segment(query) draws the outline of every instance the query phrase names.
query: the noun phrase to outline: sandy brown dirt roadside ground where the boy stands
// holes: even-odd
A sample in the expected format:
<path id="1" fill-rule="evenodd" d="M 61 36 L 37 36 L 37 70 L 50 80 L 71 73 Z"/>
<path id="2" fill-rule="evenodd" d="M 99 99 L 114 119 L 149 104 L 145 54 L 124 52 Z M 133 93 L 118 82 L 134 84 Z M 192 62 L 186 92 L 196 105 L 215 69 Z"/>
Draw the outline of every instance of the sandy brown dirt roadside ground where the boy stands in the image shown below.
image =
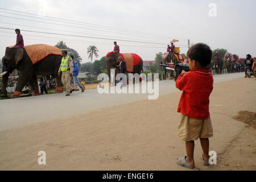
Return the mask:
<path id="1" fill-rule="evenodd" d="M 256 170 L 256 81 L 238 78 L 214 85 L 210 150 L 217 165 L 203 166 L 196 141 L 194 170 Z M 0 132 L 1 170 L 189 170 L 177 138 L 181 92 L 109 107 L 89 114 Z M 46 151 L 45 166 L 38 152 Z"/>

